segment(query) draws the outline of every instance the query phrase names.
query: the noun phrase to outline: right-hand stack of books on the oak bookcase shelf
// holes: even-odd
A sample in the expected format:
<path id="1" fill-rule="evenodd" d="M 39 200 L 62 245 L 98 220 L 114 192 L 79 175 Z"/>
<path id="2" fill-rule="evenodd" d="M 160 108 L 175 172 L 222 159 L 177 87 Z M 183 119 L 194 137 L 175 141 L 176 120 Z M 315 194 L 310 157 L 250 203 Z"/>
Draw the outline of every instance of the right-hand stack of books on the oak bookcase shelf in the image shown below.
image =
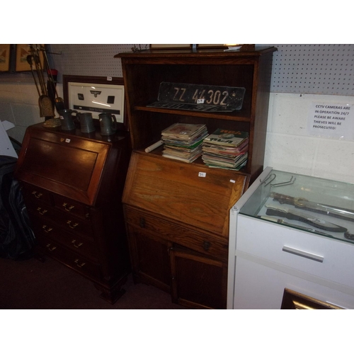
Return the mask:
<path id="1" fill-rule="evenodd" d="M 217 129 L 202 143 L 202 160 L 209 167 L 239 171 L 247 163 L 249 133 Z"/>

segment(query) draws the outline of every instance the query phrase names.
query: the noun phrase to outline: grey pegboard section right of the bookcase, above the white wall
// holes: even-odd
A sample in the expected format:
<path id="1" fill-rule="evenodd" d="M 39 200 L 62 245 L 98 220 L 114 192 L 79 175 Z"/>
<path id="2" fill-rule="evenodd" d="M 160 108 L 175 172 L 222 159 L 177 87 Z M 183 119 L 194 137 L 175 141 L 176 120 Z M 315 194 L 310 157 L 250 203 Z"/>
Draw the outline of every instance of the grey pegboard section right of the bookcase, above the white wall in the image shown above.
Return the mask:
<path id="1" fill-rule="evenodd" d="M 270 91 L 354 96 L 354 45 L 274 45 Z"/>

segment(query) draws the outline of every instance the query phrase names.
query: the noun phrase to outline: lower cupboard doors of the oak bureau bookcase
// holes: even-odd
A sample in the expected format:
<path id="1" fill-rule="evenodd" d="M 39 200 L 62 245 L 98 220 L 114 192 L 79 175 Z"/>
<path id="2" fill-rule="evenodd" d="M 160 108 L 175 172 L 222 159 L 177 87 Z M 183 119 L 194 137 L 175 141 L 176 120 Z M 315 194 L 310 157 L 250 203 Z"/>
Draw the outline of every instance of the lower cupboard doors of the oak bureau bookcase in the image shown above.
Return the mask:
<path id="1" fill-rule="evenodd" d="M 133 280 L 171 294 L 193 309 L 226 309 L 227 264 L 154 234 L 130 230 Z"/>

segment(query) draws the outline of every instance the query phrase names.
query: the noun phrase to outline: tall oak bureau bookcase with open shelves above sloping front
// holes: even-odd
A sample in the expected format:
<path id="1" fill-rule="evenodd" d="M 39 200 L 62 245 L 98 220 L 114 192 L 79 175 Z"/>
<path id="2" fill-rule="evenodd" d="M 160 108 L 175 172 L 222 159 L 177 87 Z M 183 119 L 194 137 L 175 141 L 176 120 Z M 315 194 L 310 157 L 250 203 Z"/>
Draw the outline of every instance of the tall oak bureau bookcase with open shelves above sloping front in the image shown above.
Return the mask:
<path id="1" fill-rule="evenodd" d="M 123 191 L 135 282 L 170 292 L 192 308 L 226 308 L 229 210 L 263 171 L 270 75 L 275 47 L 147 50 L 120 53 L 132 156 Z M 156 107 L 161 82 L 241 87 L 241 110 L 210 112 Z M 144 149 L 173 123 L 205 124 L 249 133 L 241 171 L 184 163 Z"/>

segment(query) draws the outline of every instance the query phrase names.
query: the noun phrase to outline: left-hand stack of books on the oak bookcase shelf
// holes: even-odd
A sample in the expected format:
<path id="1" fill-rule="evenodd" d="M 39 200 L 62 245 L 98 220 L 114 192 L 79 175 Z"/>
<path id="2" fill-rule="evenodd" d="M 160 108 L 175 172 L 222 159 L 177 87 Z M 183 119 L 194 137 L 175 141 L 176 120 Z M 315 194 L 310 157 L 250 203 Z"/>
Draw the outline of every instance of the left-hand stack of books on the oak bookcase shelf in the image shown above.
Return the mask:
<path id="1" fill-rule="evenodd" d="M 202 155 L 202 141 L 207 137 L 205 124 L 176 123 L 161 132 L 164 142 L 162 156 L 193 162 Z"/>

